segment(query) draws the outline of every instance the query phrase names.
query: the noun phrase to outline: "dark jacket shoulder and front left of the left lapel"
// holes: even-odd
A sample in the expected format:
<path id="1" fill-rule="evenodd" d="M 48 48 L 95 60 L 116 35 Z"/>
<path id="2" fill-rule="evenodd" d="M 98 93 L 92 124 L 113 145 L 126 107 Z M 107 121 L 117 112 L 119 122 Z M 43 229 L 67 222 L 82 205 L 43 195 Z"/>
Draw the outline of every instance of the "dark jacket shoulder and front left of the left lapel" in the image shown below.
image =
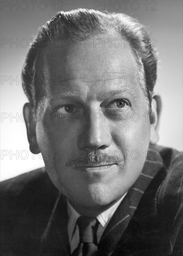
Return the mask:
<path id="1" fill-rule="evenodd" d="M 44 168 L 1 182 L 1 255 L 38 255 L 58 193 Z"/>

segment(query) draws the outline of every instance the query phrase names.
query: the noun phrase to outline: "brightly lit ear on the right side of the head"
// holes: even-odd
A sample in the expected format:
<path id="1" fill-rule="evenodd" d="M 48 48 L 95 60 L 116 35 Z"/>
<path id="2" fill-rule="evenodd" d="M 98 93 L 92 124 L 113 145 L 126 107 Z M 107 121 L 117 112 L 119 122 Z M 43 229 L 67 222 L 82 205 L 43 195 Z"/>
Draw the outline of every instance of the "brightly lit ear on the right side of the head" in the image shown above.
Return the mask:
<path id="1" fill-rule="evenodd" d="M 157 93 L 152 93 L 151 95 L 151 136 L 150 143 L 156 144 L 159 141 L 159 125 L 160 125 L 160 115 L 161 115 L 161 97 Z"/>

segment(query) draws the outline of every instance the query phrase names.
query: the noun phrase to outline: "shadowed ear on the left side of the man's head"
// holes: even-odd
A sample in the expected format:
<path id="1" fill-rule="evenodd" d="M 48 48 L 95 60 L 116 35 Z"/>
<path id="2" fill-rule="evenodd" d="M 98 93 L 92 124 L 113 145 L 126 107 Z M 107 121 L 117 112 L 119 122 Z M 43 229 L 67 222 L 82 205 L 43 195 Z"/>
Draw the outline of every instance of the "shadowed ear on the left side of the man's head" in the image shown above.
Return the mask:
<path id="1" fill-rule="evenodd" d="M 27 129 L 29 148 L 33 154 L 39 154 L 40 150 L 36 138 L 36 116 L 30 103 L 25 103 L 23 108 L 24 120 Z"/>

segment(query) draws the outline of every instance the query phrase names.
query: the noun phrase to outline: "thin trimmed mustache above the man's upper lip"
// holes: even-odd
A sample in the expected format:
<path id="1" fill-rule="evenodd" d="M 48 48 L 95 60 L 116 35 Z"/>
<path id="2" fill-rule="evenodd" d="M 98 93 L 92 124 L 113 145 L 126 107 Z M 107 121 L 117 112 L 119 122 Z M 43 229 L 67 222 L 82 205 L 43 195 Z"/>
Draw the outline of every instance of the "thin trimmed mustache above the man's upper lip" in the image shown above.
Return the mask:
<path id="1" fill-rule="evenodd" d="M 67 167 L 80 167 L 82 165 L 86 164 L 115 164 L 115 163 L 120 163 L 124 161 L 123 157 L 116 157 L 112 155 L 108 155 L 106 153 L 103 153 L 101 150 L 96 150 L 88 153 L 87 156 L 83 158 L 77 158 L 75 160 L 70 160 L 66 163 Z"/>

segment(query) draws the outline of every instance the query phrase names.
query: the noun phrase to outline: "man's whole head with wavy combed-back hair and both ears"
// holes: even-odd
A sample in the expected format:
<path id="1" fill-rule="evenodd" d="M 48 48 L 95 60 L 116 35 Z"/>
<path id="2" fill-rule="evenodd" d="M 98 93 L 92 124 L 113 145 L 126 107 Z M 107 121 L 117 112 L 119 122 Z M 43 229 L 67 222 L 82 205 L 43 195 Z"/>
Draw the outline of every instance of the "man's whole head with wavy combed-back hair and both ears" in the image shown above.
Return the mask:
<path id="1" fill-rule="evenodd" d="M 22 77 L 30 149 L 57 189 L 83 209 L 118 200 L 158 141 L 157 59 L 145 28 L 122 13 L 57 13 Z"/>

